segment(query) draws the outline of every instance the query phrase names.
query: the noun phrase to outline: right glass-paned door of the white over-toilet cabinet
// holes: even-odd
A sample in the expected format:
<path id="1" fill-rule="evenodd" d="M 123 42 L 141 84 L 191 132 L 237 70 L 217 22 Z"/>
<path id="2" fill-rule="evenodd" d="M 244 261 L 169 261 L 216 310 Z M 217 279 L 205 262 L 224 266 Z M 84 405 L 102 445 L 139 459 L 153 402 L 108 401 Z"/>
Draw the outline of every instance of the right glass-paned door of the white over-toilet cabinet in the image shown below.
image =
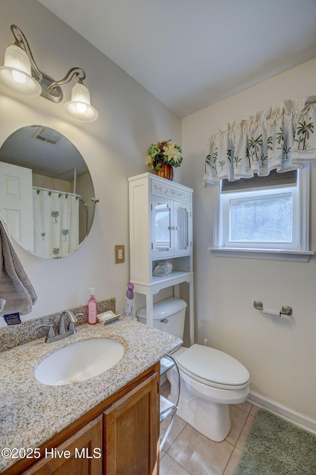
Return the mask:
<path id="1" fill-rule="evenodd" d="M 192 252 L 192 212 L 191 204 L 175 201 L 174 218 L 174 254 L 182 256 Z"/>

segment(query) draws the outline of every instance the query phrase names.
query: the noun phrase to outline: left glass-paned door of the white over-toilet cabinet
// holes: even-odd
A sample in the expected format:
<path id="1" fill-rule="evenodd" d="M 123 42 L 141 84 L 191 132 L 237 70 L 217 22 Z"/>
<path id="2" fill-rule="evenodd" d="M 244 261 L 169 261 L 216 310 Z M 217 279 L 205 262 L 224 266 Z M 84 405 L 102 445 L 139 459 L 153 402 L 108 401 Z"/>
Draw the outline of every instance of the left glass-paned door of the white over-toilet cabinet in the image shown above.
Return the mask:
<path id="1" fill-rule="evenodd" d="M 153 258 L 172 257 L 173 202 L 170 199 L 153 196 Z"/>

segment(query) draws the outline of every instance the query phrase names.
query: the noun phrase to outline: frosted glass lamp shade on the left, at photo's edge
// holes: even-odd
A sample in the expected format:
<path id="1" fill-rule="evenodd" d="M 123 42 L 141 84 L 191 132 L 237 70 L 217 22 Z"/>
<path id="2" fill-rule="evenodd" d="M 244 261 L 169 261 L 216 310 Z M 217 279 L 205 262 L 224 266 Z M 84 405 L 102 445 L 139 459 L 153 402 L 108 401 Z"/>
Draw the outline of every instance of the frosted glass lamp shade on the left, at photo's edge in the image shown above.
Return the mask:
<path id="1" fill-rule="evenodd" d="M 0 84 L 13 93 L 37 97 L 40 84 L 32 77 L 31 63 L 24 49 L 10 45 L 4 54 L 4 66 L 0 67 Z"/>

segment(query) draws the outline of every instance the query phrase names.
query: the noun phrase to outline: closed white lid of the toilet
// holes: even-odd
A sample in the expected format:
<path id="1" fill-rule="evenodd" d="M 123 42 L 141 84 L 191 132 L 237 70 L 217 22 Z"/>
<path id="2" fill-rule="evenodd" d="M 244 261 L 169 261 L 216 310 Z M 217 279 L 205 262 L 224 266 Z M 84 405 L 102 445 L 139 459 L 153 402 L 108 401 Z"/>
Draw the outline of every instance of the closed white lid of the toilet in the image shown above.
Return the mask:
<path id="1" fill-rule="evenodd" d="M 248 383 L 249 372 L 238 360 L 223 351 L 194 344 L 178 358 L 179 368 L 193 378 L 214 383 L 240 386 Z"/>

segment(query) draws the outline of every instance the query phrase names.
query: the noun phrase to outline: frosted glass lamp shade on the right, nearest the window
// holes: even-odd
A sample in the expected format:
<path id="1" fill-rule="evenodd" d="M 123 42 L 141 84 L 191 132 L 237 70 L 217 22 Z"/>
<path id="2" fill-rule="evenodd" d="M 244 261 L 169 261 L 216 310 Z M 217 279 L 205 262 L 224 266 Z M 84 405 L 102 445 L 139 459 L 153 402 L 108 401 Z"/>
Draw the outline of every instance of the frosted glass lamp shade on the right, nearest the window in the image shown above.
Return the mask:
<path id="1" fill-rule="evenodd" d="M 83 122 L 93 122 L 98 113 L 90 104 L 90 94 L 84 84 L 77 83 L 71 93 L 71 101 L 66 102 L 64 110 L 74 119 Z"/>

